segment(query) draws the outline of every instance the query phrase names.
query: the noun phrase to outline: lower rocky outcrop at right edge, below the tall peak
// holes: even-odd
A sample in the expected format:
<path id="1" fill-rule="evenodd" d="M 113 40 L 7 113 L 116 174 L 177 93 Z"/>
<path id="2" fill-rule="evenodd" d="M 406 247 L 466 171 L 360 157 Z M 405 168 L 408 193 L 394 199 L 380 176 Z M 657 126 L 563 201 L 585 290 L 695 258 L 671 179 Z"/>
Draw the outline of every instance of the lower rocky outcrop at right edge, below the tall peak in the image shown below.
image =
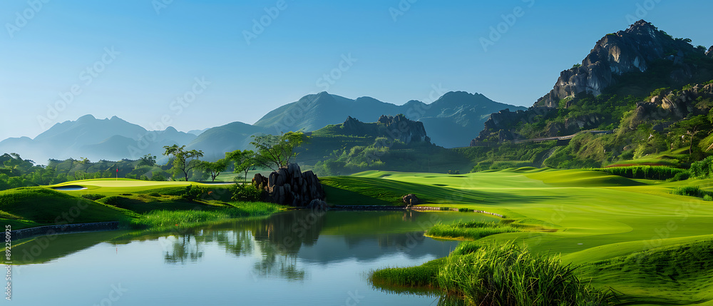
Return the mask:
<path id="1" fill-rule="evenodd" d="M 653 96 L 650 101 L 637 103 L 629 128 L 649 121 L 679 121 L 708 113 L 709 106 L 699 105 L 698 98 L 713 98 L 713 84 L 696 85 L 682 91 L 665 91 Z"/>

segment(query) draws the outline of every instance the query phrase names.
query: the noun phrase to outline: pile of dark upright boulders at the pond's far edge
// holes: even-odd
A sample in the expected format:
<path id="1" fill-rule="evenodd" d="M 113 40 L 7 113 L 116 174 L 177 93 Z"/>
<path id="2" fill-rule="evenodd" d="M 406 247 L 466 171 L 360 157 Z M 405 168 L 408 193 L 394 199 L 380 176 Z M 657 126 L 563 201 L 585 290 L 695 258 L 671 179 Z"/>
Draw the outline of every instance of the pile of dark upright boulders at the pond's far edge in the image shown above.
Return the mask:
<path id="1" fill-rule="evenodd" d="M 296 163 L 272 171 L 267 177 L 266 185 L 263 185 L 265 176 L 260 173 L 257 173 L 252 181 L 256 186 L 264 186 L 264 190 L 269 193 L 268 199 L 272 203 L 294 207 L 323 205 L 314 202 L 314 200 L 324 201 L 324 188 L 319 183 L 319 178 L 311 170 L 302 173 Z"/>

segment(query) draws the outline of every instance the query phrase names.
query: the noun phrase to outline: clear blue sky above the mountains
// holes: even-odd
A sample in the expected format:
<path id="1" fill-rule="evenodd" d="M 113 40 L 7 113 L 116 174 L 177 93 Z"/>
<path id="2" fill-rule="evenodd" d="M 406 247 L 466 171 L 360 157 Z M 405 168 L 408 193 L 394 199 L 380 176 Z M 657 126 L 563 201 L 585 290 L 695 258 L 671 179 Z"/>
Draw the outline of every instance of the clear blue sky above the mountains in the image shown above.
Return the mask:
<path id="1" fill-rule="evenodd" d="M 180 131 L 255 123 L 325 90 L 403 104 L 440 85 L 530 106 L 632 19 L 711 46 L 711 11 L 709 0 L 7 0 L 0 140 L 85 114 Z"/>

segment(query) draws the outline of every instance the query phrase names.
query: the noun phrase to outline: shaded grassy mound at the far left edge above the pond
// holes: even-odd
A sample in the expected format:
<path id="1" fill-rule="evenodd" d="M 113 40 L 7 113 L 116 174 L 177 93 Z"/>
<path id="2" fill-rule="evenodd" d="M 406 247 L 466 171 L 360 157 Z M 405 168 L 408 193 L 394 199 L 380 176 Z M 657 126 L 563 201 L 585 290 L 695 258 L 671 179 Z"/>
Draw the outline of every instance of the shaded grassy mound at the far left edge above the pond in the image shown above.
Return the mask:
<path id="1" fill-rule="evenodd" d="M 3 218 L 32 225 L 125 221 L 134 213 L 48 188 L 29 187 L 0 191 Z M 29 225 L 29 226 L 28 226 Z M 13 228 L 13 229 L 19 229 Z"/>

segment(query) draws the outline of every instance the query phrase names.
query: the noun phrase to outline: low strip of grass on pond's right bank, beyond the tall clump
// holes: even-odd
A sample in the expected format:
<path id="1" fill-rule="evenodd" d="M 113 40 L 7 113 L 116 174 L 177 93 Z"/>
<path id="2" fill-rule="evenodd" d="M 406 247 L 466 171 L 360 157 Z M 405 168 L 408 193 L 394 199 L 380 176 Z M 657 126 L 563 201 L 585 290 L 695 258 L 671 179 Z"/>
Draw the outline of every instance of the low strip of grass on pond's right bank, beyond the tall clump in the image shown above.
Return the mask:
<path id="1" fill-rule="evenodd" d="M 520 232 L 518 228 L 511 225 L 504 225 L 495 222 L 456 222 L 453 224 L 436 223 L 432 228 L 426 231 L 426 235 L 431 237 L 441 238 L 467 238 L 477 240 L 489 235 L 500 233 Z"/>

